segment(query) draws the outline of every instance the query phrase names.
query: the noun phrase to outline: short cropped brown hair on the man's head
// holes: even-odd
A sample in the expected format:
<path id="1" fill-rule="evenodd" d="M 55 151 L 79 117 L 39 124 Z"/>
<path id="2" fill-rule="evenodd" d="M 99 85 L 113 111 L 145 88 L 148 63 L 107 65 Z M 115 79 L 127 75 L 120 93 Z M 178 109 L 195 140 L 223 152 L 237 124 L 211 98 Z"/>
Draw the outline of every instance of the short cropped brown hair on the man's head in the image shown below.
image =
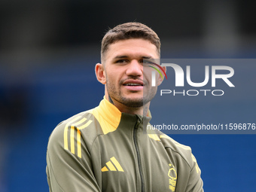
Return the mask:
<path id="1" fill-rule="evenodd" d="M 157 47 L 157 52 L 160 56 L 161 44 L 160 38 L 158 37 L 157 33 L 142 23 L 131 22 L 123 23 L 115 26 L 113 29 L 109 29 L 105 36 L 102 38 L 102 61 L 110 44 L 114 44 L 117 41 L 130 38 L 142 38 L 150 41 L 151 44 L 154 44 Z"/>

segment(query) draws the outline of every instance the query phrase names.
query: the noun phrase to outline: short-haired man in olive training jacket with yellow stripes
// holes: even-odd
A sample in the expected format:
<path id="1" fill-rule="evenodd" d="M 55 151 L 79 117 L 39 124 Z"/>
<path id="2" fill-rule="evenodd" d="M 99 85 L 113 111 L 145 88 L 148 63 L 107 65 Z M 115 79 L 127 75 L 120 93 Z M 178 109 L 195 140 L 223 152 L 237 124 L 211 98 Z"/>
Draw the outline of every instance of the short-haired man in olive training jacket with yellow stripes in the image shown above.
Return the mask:
<path id="1" fill-rule="evenodd" d="M 143 126 L 157 92 L 154 69 L 143 60 L 160 58 L 157 34 L 142 23 L 116 26 L 102 39 L 101 56 L 96 78 L 105 85 L 104 99 L 59 123 L 50 136 L 50 191 L 203 191 L 190 148 Z"/>

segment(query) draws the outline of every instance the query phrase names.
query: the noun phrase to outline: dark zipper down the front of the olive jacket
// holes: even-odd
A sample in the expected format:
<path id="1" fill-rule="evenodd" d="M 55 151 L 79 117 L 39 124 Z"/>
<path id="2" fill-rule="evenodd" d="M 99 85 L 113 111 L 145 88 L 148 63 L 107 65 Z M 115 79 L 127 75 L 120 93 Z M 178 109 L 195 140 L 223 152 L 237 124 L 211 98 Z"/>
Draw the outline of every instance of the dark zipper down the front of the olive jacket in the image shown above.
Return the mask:
<path id="1" fill-rule="evenodd" d="M 142 174 L 142 160 L 141 160 L 141 155 L 139 153 L 138 140 L 136 138 L 139 124 L 142 123 L 142 118 L 139 116 L 137 116 L 137 117 L 138 117 L 138 119 L 137 119 L 136 125 L 134 127 L 134 131 L 133 131 L 133 141 L 134 141 L 134 145 L 136 148 L 136 154 L 137 154 L 137 158 L 138 158 L 139 176 L 140 176 L 141 182 L 142 182 L 141 183 L 142 184 L 142 192 L 145 192 L 145 181 L 143 179 L 143 174 Z"/>

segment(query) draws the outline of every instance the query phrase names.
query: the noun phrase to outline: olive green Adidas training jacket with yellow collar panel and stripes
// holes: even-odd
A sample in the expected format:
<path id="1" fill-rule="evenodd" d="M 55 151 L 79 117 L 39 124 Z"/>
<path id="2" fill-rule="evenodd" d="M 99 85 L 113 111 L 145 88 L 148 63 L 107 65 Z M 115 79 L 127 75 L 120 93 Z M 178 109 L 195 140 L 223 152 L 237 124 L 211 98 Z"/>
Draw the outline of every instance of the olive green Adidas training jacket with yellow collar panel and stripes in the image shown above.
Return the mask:
<path id="1" fill-rule="evenodd" d="M 145 126 L 151 117 L 121 113 L 107 99 L 62 121 L 47 146 L 50 192 L 201 192 L 190 147 Z"/>

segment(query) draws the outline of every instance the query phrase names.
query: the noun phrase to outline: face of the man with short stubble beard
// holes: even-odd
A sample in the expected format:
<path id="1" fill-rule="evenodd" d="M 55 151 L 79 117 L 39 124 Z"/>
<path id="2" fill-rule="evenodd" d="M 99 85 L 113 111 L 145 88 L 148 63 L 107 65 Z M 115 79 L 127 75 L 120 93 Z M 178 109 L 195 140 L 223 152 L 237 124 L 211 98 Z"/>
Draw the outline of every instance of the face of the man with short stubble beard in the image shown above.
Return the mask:
<path id="1" fill-rule="evenodd" d="M 151 67 L 143 59 L 157 59 L 157 47 L 144 39 L 128 39 L 110 44 L 105 53 L 106 89 L 114 104 L 142 107 L 154 98 Z"/>

